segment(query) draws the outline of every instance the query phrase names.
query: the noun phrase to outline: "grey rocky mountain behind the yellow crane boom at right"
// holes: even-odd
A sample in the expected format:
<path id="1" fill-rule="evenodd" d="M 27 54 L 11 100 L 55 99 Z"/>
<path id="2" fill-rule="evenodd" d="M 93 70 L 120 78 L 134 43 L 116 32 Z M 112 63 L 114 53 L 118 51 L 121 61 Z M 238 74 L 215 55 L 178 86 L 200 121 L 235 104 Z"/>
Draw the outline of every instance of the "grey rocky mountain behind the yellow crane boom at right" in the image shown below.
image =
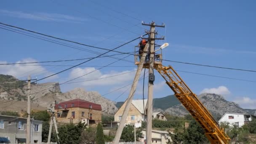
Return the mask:
<path id="1" fill-rule="evenodd" d="M 198 95 L 198 98 L 216 120 L 219 120 L 226 112 L 256 115 L 256 109 L 243 109 L 238 104 L 225 100 L 221 95 L 203 93 Z M 117 102 L 117 104 L 119 106 L 122 102 Z M 153 99 L 153 104 L 154 112 L 163 112 L 181 117 L 189 114 L 174 95 Z"/>

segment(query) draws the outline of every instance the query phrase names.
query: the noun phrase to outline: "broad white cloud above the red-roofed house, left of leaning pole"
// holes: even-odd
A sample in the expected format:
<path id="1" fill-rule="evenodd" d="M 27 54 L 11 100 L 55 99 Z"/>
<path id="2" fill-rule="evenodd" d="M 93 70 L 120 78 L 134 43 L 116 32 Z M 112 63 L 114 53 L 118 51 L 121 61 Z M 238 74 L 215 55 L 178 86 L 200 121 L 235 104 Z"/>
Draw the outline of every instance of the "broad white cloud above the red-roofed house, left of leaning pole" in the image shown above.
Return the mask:
<path id="1" fill-rule="evenodd" d="M 93 72 L 94 71 L 94 72 Z M 91 73 L 90 73 L 91 72 Z M 127 73 L 129 72 L 129 73 Z M 90 73 L 90 74 L 88 74 Z M 123 74 L 126 73 L 126 74 Z M 88 74 L 88 75 L 85 75 Z M 120 75 L 123 74 L 123 75 Z M 102 74 L 100 70 L 96 70 L 94 67 L 87 67 L 87 68 L 75 68 L 70 72 L 70 78 L 76 78 L 81 75 L 85 75 L 83 77 L 80 77 L 77 79 L 77 81 L 83 81 L 83 80 L 91 80 L 91 81 L 86 81 L 83 83 L 80 83 L 83 86 L 95 86 L 95 85 L 124 85 L 128 84 L 128 82 L 131 83 L 131 81 L 134 78 L 135 72 L 131 71 L 110 71 L 106 74 Z M 112 77 L 114 75 L 118 75 L 115 77 Z M 104 78 L 107 77 L 107 78 Z M 104 78 L 104 79 L 100 79 Z M 99 79 L 99 80 L 94 80 L 94 79 Z"/>

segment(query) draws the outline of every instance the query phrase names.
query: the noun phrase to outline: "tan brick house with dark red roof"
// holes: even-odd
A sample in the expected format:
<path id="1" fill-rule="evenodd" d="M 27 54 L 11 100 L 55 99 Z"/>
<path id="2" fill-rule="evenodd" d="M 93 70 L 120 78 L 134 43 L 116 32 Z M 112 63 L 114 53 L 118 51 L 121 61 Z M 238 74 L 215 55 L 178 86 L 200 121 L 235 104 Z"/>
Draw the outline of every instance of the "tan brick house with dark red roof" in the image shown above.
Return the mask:
<path id="1" fill-rule="evenodd" d="M 82 99 L 60 102 L 54 107 L 58 123 L 86 123 L 101 122 L 101 105 Z"/>

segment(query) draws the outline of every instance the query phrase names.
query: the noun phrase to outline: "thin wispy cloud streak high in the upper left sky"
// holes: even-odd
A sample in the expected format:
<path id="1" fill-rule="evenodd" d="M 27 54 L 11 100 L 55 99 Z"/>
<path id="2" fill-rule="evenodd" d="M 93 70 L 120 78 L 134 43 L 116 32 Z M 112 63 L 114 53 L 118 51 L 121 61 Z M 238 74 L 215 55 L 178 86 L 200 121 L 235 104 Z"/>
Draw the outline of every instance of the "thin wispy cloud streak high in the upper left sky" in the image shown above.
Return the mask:
<path id="1" fill-rule="evenodd" d="M 8 11 L 8 10 L 0 10 L 2 15 L 21 18 L 21 19 L 33 19 L 37 21 L 66 21 L 72 23 L 81 23 L 86 21 L 83 18 L 69 16 L 59 13 L 25 13 L 22 11 Z"/>

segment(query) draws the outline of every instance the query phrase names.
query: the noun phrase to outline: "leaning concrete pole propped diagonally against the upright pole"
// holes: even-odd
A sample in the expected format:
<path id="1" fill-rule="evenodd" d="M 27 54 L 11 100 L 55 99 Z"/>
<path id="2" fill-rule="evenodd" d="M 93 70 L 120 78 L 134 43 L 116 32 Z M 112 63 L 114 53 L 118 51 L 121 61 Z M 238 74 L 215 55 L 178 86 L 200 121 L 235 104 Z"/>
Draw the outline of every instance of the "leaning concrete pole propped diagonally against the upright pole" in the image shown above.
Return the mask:
<path id="1" fill-rule="evenodd" d="M 135 93 L 135 90 L 136 90 L 136 87 L 137 87 L 137 84 L 138 84 L 138 81 L 139 81 L 139 76 L 141 75 L 141 70 L 143 68 L 143 65 L 144 65 L 144 62 L 145 62 L 145 58 L 147 56 L 148 49 L 149 49 L 149 44 L 147 43 L 145 45 L 145 47 L 144 47 L 144 52 L 143 52 L 143 54 L 141 56 L 140 64 L 138 66 L 136 75 L 134 77 L 133 85 L 131 87 L 131 91 L 129 93 L 129 96 L 128 96 L 128 99 L 127 99 L 127 102 L 126 102 L 125 109 L 124 109 L 124 112 L 123 112 L 120 124 L 119 124 L 119 126 L 117 128 L 117 133 L 115 135 L 114 144 L 118 144 L 119 143 L 119 140 L 120 140 L 123 128 L 125 126 L 126 117 L 128 116 L 128 112 L 129 112 L 129 109 L 131 107 L 131 102 L 133 100 L 133 96 L 134 96 L 134 93 Z"/>

